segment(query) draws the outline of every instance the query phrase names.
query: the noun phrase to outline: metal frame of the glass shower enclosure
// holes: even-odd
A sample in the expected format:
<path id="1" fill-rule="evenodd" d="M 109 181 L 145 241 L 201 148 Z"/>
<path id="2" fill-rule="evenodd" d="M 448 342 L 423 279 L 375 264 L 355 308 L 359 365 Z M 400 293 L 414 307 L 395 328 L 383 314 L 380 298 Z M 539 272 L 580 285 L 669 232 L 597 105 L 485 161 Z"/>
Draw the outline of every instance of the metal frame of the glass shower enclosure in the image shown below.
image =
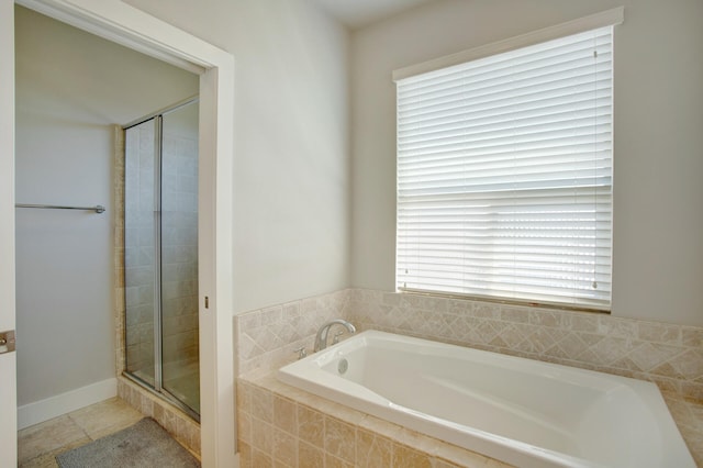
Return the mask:
<path id="1" fill-rule="evenodd" d="M 126 365 L 129 365 L 126 349 L 124 348 L 124 361 L 125 361 L 125 370 L 123 375 L 127 377 L 130 380 L 138 383 L 141 387 L 144 387 L 146 390 L 152 393 L 164 397 L 169 403 L 176 405 L 178 409 L 186 412 L 193 420 L 200 422 L 200 414 L 196 412 L 188 404 L 183 403 L 164 388 L 164 336 L 163 336 L 163 319 L 164 319 L 164 309 L 161 302 L 161 163 L 163 163 L 163 149 L 164 149 L 164 115 L 170 112 L 174 112 L 178 109 L 181 109 L 189 104 L 194 104 L 199 102 L 199 97 L 193 96 L 187 98 L 182 101 L 179 101 L 168 108 L 164 108 L 150 114 L 147 114 L 141 119 L 132 121 L 122 126 L 122 131 L 126 133 L 129 129 L 146 123 L 150 120 L 154 120 L 154 385 L 152 386 L 149 382 L 144 379 L 135 376 L 134 374 L 126 370 Z M 126 141 L 126 138 L 125 138 Z M 125 145 L 126 152 L 126 145 Z M 125 154 L 125 164 L 126 164 L 126 154 Z M 126 194 L 126 189 L 124 190 Z M 125 208 L 126 209 L 126 208 Z M 124 268 L 124 274 L 126 275 L 126 265 Z M 125 290 L 126 293 L 126 290 Z M 126 298 L 125 298 L 126 304 Z M 125 343 L 126 343 L 126 305 L 125 305 L 125 314 L 124 314 L 124 333 L 125 333 Z M 200 360 L 200 359 L 199 359 Z M 200 399 L 200 394 L 198 395 Z"/>

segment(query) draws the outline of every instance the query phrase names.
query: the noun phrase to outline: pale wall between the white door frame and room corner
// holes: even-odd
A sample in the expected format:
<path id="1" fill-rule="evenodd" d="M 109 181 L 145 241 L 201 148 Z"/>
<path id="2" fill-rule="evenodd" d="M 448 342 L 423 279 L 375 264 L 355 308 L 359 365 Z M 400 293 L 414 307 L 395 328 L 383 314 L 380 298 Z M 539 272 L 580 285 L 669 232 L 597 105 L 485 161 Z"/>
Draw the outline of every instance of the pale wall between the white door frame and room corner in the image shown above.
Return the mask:
<path id="1" fill-rule="evenodd" d="M 235 59 L 235 313 L 349 280 L 346 31 L 308 0 L 127 0 Z"/>

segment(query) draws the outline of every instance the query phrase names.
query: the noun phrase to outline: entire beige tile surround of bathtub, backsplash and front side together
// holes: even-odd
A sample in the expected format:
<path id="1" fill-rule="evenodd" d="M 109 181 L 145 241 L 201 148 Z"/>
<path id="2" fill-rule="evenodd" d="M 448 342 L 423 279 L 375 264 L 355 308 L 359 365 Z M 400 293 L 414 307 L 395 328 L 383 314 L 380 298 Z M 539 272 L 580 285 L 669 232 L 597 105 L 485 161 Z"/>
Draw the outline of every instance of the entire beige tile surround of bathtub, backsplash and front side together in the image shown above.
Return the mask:
<path id="1" fill-rule="evenodd" d="M 447 444 L 397 426 L 391 433 L 400 431 L 411 439 L 423 442 L 415 445 L 405 438 L 393 438 L 388 432 L 392 425 L 386 422 L 379 423 L 384 427 L 381 432 L 375 432 L 376 422 L 380 420 L 359 416 L 361 413 L 354 415 L 345 406 L 276 381 L 272 372 L 295 360 L 297 348 L 304 346 L 310 352 L 317 327 L 337 317 L 350 321 L 359 331 L 381 330 L 654 381 L 662 390 L 693 457 L 703 466 L 703 328 L 364 289 L 337 291 L 235 316 L 238 385 L 245 387 L 238 388 L 244 393 L 237 399 L 238 441 L 243 459 L 253 463 L 244 466 L 270 466 L 276 461 L 274 466 L 295 467 L 291 460 L 298 458 L 287 458 L 288 461 L 277 458 L 282 457 L 282 453 L 291 454 L 293 447 L 298 450 L 295 457 L 324 459 L 326 466 L 365 466 L 366 448 L 358 444 L 371 436 L 380 444 L 376 447 L 380 452 L 371 457 L 378 466 L 393 466 L 389 460 L 395 458 L 388 454 L 395 454 L 395 448 L 382 449 L 389 446 L 386 444 L 398 447 L 399 457 L 414 447 L 412 456 L 424 460 L 419 466 L 493 466 L 490 464 L 495 463 L 482 457 L 475 461 L 476 454 L 466 450 L 460 456 L 454 452 L 454 458 L 437 457 L 437 447 L 448 450 Z M 263 395 L 257 400 L 247 397 L 247 392 Z M 322 438 L 317 445 L 311 444 L 300 432 L 295 435 L 281 428 L 278 422 L 269 421 L 268 410 L 260 413 L 261 401 L 264 406 L 272 402 L 271 411 L 276 411 L 275 403 L 281 403 L 279 399 L 294 404 L 295 411 L 304 414 L 308 410 L 314 411 L 317 424 L 323 422 L 321 431 L 326 427 L 326 421 L 331 421 L 331 427 L 337 427 L 338 420 L 350 424 L 356 434 L 356 461 L 339 457 L 332 446 L 324 445 L 324 436 L 319 436 Z M 339 412 L 347 416 L 341 417 Z M 276 417 L 276 412 L 271 417 Z M 359 425 L 359 417 L 369 425 Z M 305 430 L 299 427 L 299 431 Z M 350 448 L 346 450 L 352 453 Z M 401 459 L 404 458 L 398 458 Z"/>

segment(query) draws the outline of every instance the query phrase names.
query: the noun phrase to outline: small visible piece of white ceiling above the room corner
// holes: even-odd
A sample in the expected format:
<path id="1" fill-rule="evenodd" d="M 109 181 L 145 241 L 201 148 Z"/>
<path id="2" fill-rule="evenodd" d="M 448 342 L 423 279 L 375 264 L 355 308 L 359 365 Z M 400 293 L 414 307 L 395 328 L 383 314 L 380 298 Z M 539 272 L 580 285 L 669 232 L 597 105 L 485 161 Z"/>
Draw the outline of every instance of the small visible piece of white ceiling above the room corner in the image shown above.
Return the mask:
<path id="1" fill-rule="evenodd" d="M 315 0 L 350 30 L 358 30 L 417 5 L 436 0 Z"/>

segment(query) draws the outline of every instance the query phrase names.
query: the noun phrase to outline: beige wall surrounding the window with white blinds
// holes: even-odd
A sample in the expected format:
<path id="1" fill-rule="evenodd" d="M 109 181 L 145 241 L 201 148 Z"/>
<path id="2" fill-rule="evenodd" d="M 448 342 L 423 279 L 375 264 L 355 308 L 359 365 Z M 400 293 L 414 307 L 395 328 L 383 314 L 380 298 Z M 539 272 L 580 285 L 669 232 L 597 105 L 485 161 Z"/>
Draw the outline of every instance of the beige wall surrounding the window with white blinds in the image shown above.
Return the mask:
<path id="1" fill-rule="evenodd" d="M 615 31 L 613 315 L 703 325 L 703 2 L 446 0 L 352 38 L 352 286 L 394 290 L 393 69 L 625 5 Z"/>

